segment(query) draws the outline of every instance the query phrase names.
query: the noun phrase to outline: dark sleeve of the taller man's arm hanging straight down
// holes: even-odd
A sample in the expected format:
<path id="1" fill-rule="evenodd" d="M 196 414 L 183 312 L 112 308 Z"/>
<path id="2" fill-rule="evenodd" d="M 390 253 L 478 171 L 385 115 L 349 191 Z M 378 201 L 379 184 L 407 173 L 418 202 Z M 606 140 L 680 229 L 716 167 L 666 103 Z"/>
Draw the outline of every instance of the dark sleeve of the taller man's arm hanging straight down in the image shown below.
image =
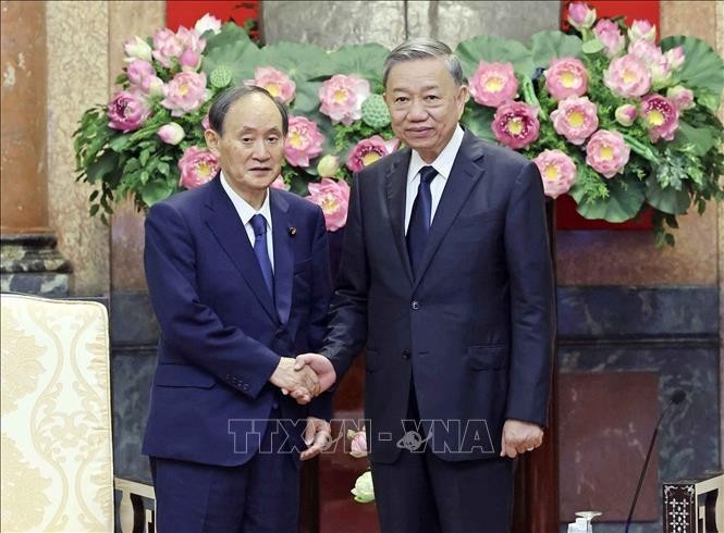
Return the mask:
<path id="1" fill-rule="evenodd" d="M 545 203 L 538 168 L 513 185 L 505 220 L 512 351 L 506 419 L 545 425 L 555 335 L 555 296 Z"/>

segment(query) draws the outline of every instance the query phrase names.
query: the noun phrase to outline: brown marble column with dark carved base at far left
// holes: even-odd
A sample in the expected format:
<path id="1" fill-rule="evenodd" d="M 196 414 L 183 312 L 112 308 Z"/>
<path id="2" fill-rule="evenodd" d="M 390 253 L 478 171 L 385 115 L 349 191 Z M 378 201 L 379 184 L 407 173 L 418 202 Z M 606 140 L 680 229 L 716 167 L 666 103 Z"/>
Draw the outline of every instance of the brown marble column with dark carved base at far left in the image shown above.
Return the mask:
<path id="1" fill-rule="evenodd" d="M 0 287 L 68 294 L 48 223 L 46 3 L 3 1 Z"/>

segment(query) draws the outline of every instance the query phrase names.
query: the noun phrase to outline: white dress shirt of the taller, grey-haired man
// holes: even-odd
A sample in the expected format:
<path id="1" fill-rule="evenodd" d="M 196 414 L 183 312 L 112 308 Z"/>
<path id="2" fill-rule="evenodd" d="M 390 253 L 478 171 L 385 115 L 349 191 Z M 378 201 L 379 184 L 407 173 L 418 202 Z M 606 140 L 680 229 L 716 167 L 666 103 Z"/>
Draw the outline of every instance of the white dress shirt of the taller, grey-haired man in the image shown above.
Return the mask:
<path id="1" fill-rule="evenodd" d="M 432 195 L 432 207 L 430 210 L 430 224 L 434 219 L 434 213 L 438 210 L 438 204 L 440 203 L 440 198 L 442 197 L 442 191 L 445 189 L 445 184 L 450 177 L 450 172 L 453 170 L 453 163 L 457 157 L 457 150 L 459 150 L 461 145 L 463 144 L 463 128 L 457 125 L 453 136 L 440 152 L 440 156 L 432 161 L 432 163 L 426 163 L 422 161 L 422 158 L 419 153 L 413 150 L 413 156 L 409 159 L 409 168 L 407 169 L 407 195 L 405 196 L 405 235 L 407 235 L 407 226 L 409 226 L 409 218 L 413 213 L 413 203 L 417 197 L 417 189 L 420 186 L 420 169 L 422 166 L 432 166 L 438 171 L 438 175 L 430 183 L 430 194 Z"/>

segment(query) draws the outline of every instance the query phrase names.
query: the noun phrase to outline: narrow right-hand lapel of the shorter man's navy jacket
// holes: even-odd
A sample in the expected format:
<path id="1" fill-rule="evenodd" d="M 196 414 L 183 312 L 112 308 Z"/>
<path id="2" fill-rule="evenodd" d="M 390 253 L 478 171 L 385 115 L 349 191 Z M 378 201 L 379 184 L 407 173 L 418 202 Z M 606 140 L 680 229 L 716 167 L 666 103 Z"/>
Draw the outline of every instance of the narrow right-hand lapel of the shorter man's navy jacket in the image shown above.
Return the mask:
<path id="1" fill-rule="evenodd" d="M 292 309 L 292 284 L 294 277 L 294 251 L 290 239 L 289 202 L 279 191 L 269 188 L 271 204 L 272 238 L 274 241 L 274 298 L 279 320 L 286 324 Z"/>

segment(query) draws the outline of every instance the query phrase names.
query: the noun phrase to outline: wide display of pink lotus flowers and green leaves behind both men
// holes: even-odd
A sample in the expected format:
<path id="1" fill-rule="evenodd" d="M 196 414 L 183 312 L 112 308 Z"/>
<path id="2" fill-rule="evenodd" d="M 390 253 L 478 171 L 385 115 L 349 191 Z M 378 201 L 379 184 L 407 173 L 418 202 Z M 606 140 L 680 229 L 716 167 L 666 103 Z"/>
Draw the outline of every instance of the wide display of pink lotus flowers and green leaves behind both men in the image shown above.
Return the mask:
<path id="1" fill-rule="evenodd" d="M 545 194 L 569 194 L 582 216 L 624 222 L 652 210 L 656 244 L 673 244 L 677 215 L 724 198 L 722 59 L 694 37 L 656 45 L 646 21 L 597 21 L 584 2 L 567 16 L 570 34 L 541 32 L 530 46 L 490 36 L 458 45 L 471 97 L 463 125 L 535 161 Z M 119 197 L 143 209 L 216 175 L 206 114 L 237 84 L 289 107 L 274 186 L 319 204 L 330 231 L 345 224 L 352 173 L 401 147 L 382 97 L 380 45 L 259 48 L 206 15 L 191 29 L 135 37 L 124 52 L 119 91 L 86 111 L 75 133 L 78 179 L 99 186 L 90 212 L 103 221 Z"/>

